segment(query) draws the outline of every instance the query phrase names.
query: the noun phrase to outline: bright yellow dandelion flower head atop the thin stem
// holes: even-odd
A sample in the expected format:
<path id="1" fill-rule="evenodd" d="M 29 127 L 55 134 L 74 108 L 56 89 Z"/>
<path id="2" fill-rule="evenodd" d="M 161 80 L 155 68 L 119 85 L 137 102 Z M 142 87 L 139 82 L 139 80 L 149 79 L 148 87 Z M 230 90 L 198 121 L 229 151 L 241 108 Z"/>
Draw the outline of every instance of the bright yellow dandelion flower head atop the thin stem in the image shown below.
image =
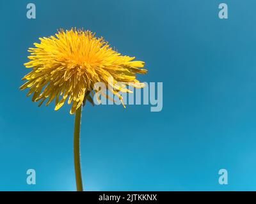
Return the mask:
<path id="1" fill-rule="evenodd" d="M 55 110 L 58 110 L 68 101 L 68 104 L 72 103 L 70 113 L 73 114 L 85 98 L 93 91 L 97 92 L 93 90 L 93 84 L 97 82 L 106 84 L 121 101 L 119 92 L 131 92 L 127 85 L 143 87 L 143 83 L 136 79 L 136 73 L 147 73 L 142 69 L 145 62 L 121 55 L 91 31 L 61 29 L 55 36 L 39 40 L 40 43 L 34 43 L 35 48 L 28 50 L 30 61 L 24 66 L 33 70 L 22 78 L 28 82 L 20 87 L 21 90 L 28 88 L 27 96 L 33 94 L 32 101 L 40 101 L 39 106 L 45 99 L 46 105 L 55 99 Z M 109 77 L 113 79 L 111 84 Z"/>

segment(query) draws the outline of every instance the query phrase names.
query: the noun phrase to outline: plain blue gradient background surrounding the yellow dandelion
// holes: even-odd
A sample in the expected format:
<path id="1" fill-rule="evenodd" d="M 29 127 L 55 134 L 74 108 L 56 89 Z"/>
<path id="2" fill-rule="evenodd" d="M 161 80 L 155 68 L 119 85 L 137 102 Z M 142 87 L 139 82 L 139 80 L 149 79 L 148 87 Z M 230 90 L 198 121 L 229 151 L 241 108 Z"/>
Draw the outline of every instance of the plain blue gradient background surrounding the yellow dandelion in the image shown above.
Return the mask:
<path id="1" fill-rule="evenodd" d="M 31 2 L 35 20 L 26 18 Z M 228 20 L 218 18 L 223 2 Z M 162 112 L 86 105 L 87 191 L 256 190 L 255 8 L 254 0 L 1 1 L 0 190 L 76 190 L 70 107 L 38 108 L 19 91 L 28 47 L 70 27 L 147 62 L 139 79 L 164 87 Z"/>

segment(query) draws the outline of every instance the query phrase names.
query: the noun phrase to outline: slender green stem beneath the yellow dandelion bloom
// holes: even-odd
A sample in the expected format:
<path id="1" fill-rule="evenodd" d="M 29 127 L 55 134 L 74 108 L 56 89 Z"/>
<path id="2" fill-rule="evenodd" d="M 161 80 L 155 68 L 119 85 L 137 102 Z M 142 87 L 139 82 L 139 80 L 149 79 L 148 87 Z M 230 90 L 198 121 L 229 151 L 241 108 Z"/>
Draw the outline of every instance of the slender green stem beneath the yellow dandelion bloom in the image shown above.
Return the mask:
<path id="1" fill-rule="evenodd" d="M 83 191 L 83 181 L 81 174 L 81 163 L 80 163 L 80 126 L 81 126 L 81 115 L 82 105 L 76 110 L 75 129 L 74 129 L 74 162 L 76 172 L 76 188 L 77 191 Z"/>

